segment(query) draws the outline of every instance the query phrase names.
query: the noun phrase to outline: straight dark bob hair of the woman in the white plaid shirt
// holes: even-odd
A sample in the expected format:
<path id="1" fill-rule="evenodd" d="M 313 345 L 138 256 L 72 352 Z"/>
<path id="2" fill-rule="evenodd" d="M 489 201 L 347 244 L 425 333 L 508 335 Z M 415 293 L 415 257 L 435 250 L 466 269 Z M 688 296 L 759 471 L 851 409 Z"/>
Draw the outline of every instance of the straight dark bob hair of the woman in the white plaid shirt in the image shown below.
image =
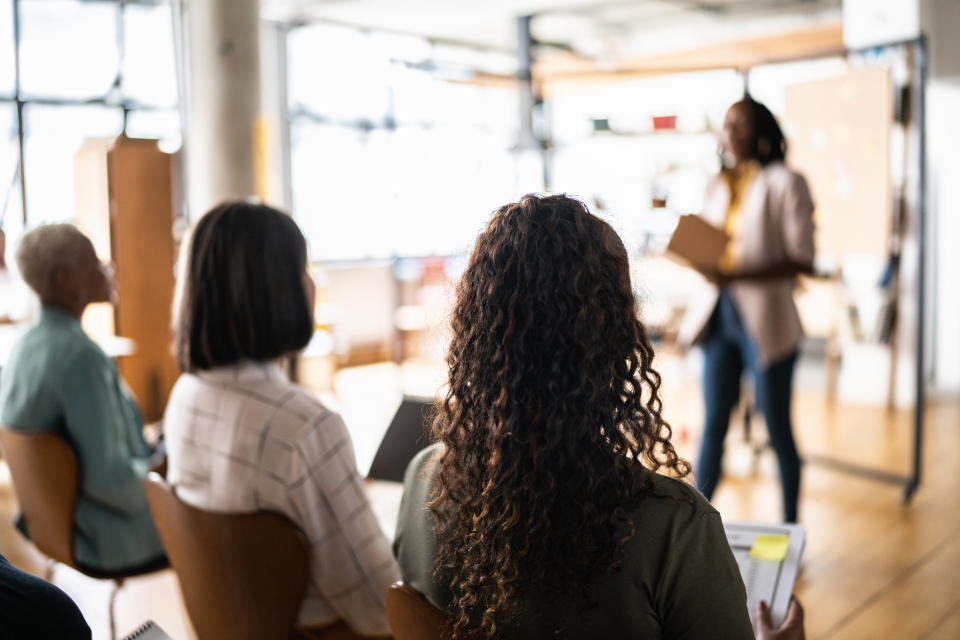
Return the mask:
<path id="1" fill-rule="evenodd" d="M 299 351 L 313 334 L 307 245 L 290 216 L 227 202 L 197 222 L 181 258 L 174 343 L 182 371 Z"/>

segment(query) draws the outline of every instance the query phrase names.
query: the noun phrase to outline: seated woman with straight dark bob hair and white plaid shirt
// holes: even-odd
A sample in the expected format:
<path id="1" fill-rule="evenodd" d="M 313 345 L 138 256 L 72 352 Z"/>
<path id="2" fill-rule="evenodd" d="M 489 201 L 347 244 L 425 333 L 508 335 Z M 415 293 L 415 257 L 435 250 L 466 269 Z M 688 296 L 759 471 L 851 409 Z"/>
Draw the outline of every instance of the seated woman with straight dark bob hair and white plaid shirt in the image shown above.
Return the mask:
<path id="1" fill-rule="evenodd" d="M 312 569 L 298 624 L 322 628 L 316 637 L 389 634 L 384 594 L 399 571 L 350 435 L 280 367 L 313 333 L 300 229 L 265 205 L 222 204 L 197 222 L 180 266 L 169 482 L 202 509 L 276 511 L 300 526 Z"/>

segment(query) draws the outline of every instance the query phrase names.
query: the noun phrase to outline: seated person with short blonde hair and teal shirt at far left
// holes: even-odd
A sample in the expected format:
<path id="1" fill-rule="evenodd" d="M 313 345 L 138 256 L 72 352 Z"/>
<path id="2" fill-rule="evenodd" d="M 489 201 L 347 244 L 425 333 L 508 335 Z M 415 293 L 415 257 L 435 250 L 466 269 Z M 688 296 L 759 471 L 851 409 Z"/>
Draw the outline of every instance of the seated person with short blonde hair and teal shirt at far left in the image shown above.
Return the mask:
<path id="1" fill-rule="evenodd" d="M 151 449 L 143 419 L 114 361 L 80 325 L 87 305 L 112 302 L 113 279 L 90 240 L 69 224 L 26 233 L 17 266 L 42 304 L 16 343 L 0 381 L 0 424 L 53 431 L 77 455 L 74 557 L 88 573 L 164 562 L 143 481 Z M 29 536 L 29 524 L 18 528 Z"/>

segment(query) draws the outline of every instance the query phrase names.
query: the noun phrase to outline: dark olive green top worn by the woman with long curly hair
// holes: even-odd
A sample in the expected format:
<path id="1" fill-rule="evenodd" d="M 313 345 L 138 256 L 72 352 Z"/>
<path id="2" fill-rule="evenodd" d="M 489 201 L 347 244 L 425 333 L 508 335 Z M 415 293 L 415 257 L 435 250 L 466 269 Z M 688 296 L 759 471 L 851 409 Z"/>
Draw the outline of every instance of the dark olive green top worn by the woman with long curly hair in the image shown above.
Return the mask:
<path id="1" fill-rule="evenodd" d="M 433 579 L 437 541 L 426 506 L 436 446 L 407 467 L 394 553 L 403 580 L 442 609 L 450 598 Z M 632 520 L 636 533 L 624 562 L 588 589 L 595 604 L 558 603 L 545 584 L 524 597 L 529 604 L 517 619 L 498 621 L 498 633 L 507 639 L 753 639 L 746 591 L 720 514 L 696 489 L 658 475 Z"/>

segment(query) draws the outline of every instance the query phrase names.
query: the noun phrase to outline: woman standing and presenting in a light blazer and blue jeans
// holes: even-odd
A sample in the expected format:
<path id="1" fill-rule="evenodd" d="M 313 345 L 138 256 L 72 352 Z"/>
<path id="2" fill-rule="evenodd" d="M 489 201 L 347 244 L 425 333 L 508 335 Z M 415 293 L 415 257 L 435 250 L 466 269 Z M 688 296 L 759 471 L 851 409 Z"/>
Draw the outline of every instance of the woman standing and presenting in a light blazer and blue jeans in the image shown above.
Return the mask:
<path id="1" fill-rule="evenodd" d="M 800 458 L 790 399 L 803 337 L 793 301 L 796 277 L 813 270 L 813 201 L 807 183 L 784 164 L 786 141 L 770 110 L 746 96 L 727 111 L 724 168 L 706 190 L 703 217 L 730 236 L 718 269 L 704 272 L 712 296 L 683 329 L 702 342 L 706 424 L 697 488 L 709 499 L 720 476 L 723 440 L 744 369 L 754 380 L 783 488 L 783 518 L 797 520 Z"/>

